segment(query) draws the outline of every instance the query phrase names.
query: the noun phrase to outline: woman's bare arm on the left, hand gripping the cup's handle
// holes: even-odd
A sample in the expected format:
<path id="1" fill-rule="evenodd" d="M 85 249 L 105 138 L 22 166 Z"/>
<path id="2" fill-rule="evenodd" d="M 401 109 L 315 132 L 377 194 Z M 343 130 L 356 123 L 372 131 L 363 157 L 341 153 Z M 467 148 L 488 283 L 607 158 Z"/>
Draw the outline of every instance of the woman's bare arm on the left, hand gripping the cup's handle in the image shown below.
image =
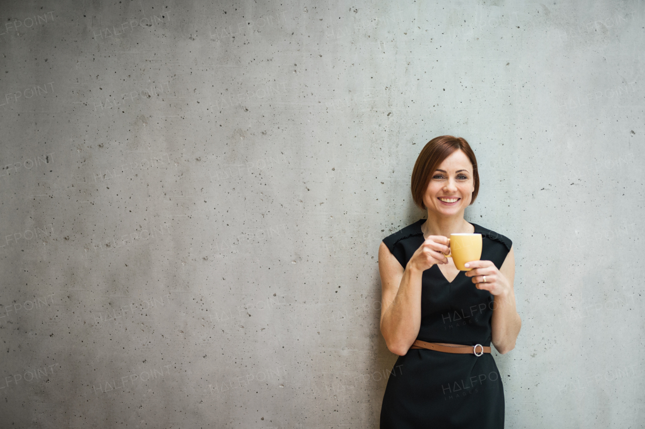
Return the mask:
<path id="1" fill-rule="evenodd" d="M 421 328 L 421 276 L 435 263 L 448 263 L 447 244 L 446 237 L 428 237 L 403 269 L 381 242 L 381 333 L 390 352 L 403 356 L 417 339 Z"/>

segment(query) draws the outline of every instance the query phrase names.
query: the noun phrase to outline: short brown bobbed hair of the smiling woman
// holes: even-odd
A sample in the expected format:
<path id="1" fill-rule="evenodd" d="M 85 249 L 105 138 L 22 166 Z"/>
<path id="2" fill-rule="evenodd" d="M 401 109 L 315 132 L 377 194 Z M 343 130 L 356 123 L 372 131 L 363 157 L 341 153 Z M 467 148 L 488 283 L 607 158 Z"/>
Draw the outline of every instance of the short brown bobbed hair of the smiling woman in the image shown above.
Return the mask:
<path id="1" fill-rule="evenodd" d="M 464 138 L 453 137 L 452 135 L 441 135 L 426 143 L 426 146 L 419 153 L 417 162 L 414 164 L 414 169 L 412 170 L 412 199 L 417 207 L 421 207 L 424 210 L 427 209 L 426 205 L 423 204 L 423 196 L 426 193 L 426 189 L 428 189 L 428 183 L 430 183 L 432 174 L 444 159 L 458 150 L 464 152 L 468 159 L 470 159 L 471 164 L 473 164 L 473 186 L 475 187 L 475 191 L 473 191 L 470 204 L 475 202 L 475 198 L 477 198 L 477 193 L 479 192 L 479 174 L 477 173 L 477 158 L 475 158 L 473 149 L 470 148 L 470 144 Z"/>

